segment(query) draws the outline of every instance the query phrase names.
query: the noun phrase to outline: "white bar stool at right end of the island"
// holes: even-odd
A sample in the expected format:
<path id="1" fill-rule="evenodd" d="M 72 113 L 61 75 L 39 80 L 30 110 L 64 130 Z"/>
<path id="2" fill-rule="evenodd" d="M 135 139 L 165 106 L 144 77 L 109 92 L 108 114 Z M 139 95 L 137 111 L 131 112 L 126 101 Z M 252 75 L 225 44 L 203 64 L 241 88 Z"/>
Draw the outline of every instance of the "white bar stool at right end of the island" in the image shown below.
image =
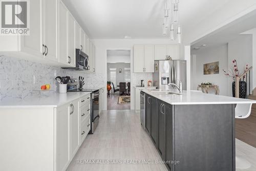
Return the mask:
<path id="1" fill-rule="evenodd" d="M 247 104 L 237 104 L 235 109 L 235 118 L 236 119 L 245 119 L 248 118 L 251 114 L 251 105 L 252 103 Z M 251 163 L 246 159 L 242 159 L 236 156 L 236 168 L 246 169 L 251 166 Z"/>

